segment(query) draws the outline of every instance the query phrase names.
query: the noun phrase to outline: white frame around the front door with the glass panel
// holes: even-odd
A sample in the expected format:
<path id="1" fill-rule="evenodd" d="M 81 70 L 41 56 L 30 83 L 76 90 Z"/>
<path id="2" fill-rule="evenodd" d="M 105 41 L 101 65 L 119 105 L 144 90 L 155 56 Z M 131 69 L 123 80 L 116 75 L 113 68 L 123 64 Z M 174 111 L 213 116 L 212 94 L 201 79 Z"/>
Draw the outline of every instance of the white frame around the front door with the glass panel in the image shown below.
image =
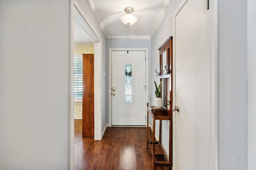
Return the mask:
<path id="1" fill-rule="evenodd" d="M 108 127 L 112 126 L 112 96 L 111 96 L 111 87 L 112 87 L 112 51 L 145 51 L 146 53 L 146 103 L 148 103 L 148 48 L 110 48 L 109 49 L 109 69 L 108 69 Z M 145 103 L 145 115 L 147 111 L 147 106 Z M 147 117 L 146 117 L 147 119 Z M 145 122 L 146 122 L 145 119 Z M 146 125 L 146 124 L 145 124 Z M 127 126 L 126 126 L 127 127 Z M 134 127 L 134 126 L 132 126 Z M 141 127 L 141 126 L 140 126 Z"/>

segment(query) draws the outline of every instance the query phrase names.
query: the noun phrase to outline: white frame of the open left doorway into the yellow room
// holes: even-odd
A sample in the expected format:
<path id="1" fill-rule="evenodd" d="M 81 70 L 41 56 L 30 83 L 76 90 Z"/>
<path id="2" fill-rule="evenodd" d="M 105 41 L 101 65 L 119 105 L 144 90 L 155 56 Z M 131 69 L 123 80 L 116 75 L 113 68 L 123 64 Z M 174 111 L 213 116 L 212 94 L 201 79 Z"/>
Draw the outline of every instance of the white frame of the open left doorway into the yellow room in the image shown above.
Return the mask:
<path id="1" fill-rule="evenodd" d="M 70 72 L 69 72 L 69 111 L 70 116 L 68 121 L 70 123 L 68 136 L 69 136 L 69 166 L 70 170 L 74 169 L 74 92 L 73 92 L 73 82 L 74 82 L 74 8 L 80 13 L 80 18 L 83 22 L 83 29 L 86 30 L 92 41 L 94 41 L 94 140 L 101 140 L 103 137 L 102 133 L 102 39 L 100 38 L 98 32 L 90 22 L 89 18 L 84 14 L 81 6 L 76 0 L 70 0 Z M 86 27 L 87 26 L 87 27 Z"/>

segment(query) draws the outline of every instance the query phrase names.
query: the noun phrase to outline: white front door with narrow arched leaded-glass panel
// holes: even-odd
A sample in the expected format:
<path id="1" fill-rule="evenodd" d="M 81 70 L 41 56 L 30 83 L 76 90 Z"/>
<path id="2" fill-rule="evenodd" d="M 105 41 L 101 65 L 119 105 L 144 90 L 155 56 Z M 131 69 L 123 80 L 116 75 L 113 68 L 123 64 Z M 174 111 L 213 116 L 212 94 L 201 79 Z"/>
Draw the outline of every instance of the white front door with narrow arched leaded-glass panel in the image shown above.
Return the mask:
<path id="1" fill-rule="evenodd" d="M 112 51 L 112 125 L 146 125 L 145 51 Z"/>

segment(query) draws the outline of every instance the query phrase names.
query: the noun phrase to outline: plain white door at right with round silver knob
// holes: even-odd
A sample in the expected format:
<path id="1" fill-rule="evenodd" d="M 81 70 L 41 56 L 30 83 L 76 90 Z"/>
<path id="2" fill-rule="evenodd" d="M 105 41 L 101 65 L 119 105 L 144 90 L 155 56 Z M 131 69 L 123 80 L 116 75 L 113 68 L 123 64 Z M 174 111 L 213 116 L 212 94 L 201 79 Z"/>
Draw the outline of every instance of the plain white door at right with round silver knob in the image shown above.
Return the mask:
<path id="1" fill-rule="evenodd" d="M 212 53 L 207 0 L 184 0 L 174 13 L 174 170 L 211 170 Z"/>

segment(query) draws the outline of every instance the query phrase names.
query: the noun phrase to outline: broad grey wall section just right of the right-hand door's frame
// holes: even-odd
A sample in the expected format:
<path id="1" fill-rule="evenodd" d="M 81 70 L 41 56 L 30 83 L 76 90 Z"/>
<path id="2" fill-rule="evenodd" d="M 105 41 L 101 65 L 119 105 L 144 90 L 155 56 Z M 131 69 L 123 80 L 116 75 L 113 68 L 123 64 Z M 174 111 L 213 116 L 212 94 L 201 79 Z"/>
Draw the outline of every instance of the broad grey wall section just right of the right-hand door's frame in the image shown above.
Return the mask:
<path id="1" fill-rule="evenodd" d="M 246 0 L 218 1 L 219 170 L 247 169 L 246 10 Z"/>

